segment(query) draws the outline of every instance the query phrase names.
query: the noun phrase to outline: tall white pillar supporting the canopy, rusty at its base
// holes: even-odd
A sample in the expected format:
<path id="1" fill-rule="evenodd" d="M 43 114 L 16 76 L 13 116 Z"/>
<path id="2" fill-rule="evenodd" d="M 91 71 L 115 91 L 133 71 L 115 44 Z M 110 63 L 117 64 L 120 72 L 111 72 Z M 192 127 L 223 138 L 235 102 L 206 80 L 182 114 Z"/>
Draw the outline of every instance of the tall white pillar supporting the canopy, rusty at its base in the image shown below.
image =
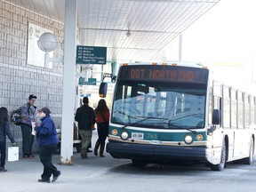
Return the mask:
<path id="1" fill-rule="evenodd" d="M 73 164 L 73 124 L 76 83 L 76 15 L 77 1 L 65 0 L 65 44 L 60 164 Z"/>

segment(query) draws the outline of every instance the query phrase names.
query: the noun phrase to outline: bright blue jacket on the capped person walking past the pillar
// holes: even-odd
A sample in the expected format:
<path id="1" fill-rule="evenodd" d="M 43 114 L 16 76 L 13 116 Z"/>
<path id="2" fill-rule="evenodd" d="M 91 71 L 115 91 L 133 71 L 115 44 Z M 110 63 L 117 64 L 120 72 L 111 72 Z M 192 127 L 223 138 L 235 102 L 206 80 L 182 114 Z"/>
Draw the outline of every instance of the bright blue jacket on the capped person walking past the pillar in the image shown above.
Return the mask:
<path id="1" fill-rule="evenodd" d="M 37 146 L 41 148 L 44 145 L 57 144 L 59 142 L 55 124 L 51 116 L 44 116 L 42 124 L 35 127 Z"/>

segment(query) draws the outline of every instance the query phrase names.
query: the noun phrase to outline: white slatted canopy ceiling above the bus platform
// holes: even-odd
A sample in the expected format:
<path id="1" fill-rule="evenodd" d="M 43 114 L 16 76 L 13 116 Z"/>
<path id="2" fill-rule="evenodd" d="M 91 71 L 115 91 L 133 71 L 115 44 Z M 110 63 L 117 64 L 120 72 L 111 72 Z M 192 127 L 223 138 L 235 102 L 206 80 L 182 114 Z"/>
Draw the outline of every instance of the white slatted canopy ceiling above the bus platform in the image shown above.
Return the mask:
<path id="1" fill-rule="evenodd" d="M 64 22 L 64 0 L 6 1 Z M 79 43 L 107 46 L 108 60 L 155 60 L 167 44 L 218 2 L 78 0 Z"/>

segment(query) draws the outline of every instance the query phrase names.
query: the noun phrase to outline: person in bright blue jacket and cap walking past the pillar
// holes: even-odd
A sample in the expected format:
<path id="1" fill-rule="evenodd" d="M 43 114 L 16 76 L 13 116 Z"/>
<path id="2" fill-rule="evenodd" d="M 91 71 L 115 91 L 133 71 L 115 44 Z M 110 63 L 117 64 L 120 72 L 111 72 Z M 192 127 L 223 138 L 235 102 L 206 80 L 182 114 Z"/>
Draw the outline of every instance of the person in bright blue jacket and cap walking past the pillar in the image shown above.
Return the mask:
<path id="1" fill-rule="evenodd" d="M 50 116 L 49 108 L 41 108 L 38 110 L 40 113 L 42 124 L 35 127 L 36 141 L 39 148 L 40 161 L 44 165 L 44 172 L 38 182 L 52 182 L 60 177 L 60 171 L 52 164 L 52 154 L 59 142 L 55 124 Z"/>

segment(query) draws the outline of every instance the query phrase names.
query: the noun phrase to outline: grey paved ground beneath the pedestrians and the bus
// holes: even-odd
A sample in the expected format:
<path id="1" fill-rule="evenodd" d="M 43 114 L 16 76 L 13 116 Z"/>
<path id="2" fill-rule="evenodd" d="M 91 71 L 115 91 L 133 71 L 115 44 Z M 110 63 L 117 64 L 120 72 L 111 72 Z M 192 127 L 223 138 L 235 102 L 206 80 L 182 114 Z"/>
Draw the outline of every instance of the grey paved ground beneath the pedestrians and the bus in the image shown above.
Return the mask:
<path id="1" fill-rule="evenodd" d="M 93 132 L 92 143 L 97 138 Z M 81 159 L 74 149 L 73 165 L 60 165 L 60 155 L 53 163 L 62 174 L 54 183 L 39 183 L 43 165 L 35 159 L 6 162 L 8 172 L 0 172 L 0 192 L 241 192 L 256 191 L 256 159 L 252 165 L 228 164 L 222 172 L 212 172 L 204 164 L 148 164 L 132 167 L 130 160 L 102 158 L 89 153 Z"/>

